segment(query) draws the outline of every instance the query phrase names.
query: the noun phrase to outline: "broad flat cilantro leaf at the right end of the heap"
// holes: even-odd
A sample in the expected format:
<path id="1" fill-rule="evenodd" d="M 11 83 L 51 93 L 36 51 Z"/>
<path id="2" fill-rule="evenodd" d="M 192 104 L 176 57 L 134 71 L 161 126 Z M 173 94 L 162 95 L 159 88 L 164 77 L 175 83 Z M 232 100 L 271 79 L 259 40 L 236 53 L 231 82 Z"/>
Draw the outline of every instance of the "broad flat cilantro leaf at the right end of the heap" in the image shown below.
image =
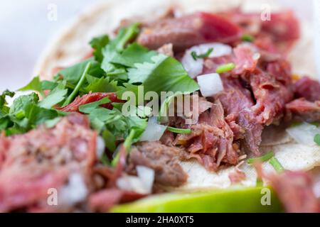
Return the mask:
<path id="1" fill-rule="evenodd" d="M 137 63 L 135 68 L 129 69 L 130 83 L 141 82 L 145 92 L 194 92 L 199 89 L 174 57 L 159 54 L 151 60 L 152 63 Z"/>

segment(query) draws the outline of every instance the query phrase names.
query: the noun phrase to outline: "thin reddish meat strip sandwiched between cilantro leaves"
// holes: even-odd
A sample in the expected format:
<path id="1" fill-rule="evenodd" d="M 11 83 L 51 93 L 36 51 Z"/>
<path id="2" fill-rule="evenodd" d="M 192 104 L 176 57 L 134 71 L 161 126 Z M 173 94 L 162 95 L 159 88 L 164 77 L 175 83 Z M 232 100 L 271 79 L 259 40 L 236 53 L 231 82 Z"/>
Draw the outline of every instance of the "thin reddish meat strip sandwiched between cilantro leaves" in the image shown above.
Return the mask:
<path id="1" fill-rule="evenodd" d="M 63 106 L 61 108 L 58 108 L 58 110 L 65 111 L 65 112 L 79 112 L 79 106 L 90 104 L 92 102 L 99 101 L 104 98 L 110 99 L 110 103 L 102 105 L 102 107 L 105 107 L 107 109 L 113 109 L 113 106 L 112 106 L 113 102 L 124 102 L 118 99 L 117 94 L 115 93 L 96 92 L 96 93 L 85 94 L 84 96 L 81 96 L 81 97 L 78 96 L 77 98 L 75 98 L 75 100 L 71 104 L 69 104 L 68 106 Z"/>

